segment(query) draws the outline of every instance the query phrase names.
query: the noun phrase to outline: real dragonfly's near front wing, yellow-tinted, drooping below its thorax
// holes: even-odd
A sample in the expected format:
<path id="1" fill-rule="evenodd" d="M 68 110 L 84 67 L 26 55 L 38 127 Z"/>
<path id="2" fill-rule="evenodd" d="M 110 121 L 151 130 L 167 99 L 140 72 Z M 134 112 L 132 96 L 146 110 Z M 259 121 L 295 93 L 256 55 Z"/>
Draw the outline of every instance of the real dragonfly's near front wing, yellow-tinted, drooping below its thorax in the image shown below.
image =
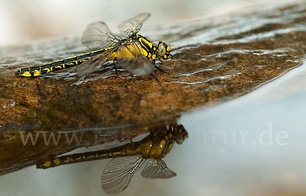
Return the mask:
<path id="1" fill-rule="evenodd" d="M 136 76 L 152 73 L 154 65 L 143 54 L 139 41 L 122 44 L 117 50 L 117 61 L 121 68 Z"/>

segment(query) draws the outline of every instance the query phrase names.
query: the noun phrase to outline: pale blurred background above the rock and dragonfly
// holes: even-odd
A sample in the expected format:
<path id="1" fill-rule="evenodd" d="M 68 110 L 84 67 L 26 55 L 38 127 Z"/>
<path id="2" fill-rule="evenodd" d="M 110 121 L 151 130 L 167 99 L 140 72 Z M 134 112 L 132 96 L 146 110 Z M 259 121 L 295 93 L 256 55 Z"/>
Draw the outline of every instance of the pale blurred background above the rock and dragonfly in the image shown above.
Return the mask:
<path id="1" fill-rule="evenodd" d="M 292 0 L 2 0 L 0 1 L 0 46 L 29 43 L 32 40 L 79 36 L 93 21 L 104 21 L 114 33 L 123 20 L 141 12 L 152 15 L 144 26 L 159 22 L 178 22 L 199 17 L 219 16 L 241 9 L 277 5 Z M 143 28 L 144 29 L 144 28 Z"/>

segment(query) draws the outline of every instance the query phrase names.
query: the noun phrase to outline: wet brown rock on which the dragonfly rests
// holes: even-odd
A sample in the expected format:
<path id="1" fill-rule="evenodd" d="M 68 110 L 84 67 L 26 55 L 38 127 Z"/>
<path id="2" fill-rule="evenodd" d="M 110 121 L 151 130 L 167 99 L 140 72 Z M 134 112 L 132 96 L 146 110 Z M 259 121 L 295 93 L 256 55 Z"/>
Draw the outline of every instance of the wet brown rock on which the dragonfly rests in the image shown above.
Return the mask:
<path id="1" fill-rule="evenodd" d="M 293 8 L 289 7 L 286 13 L 296 12 Z M 158 64 L 170 75 L 154 72 L 161 82 L 151 76 L 131 77 L 125 71 L 120 71 L 119 78 L 95 79 L 104 74 L 105 69 L 96 71 L 83 82 L 74 69 L 27 78 L 13 73 L 16 68 L 31 63 L 14 66 L 13 58 L 3 58 L 2 68 L 6 68 L 0 76 L 1 133 L 151 122 L 233 99 L 300 64 L 306 50 L 306 34 L 293 27 L 304 24 L 305 17 L 300 14 L 293 21 L 268 22 L 250 31 L 219 37 L 211 44 L 173 48 L 174 57 Z M 250 37 L 255 38 L 245 41 Z M 54 42 L 9 49 L 12 53 L 16 50 L 16 55 L 21 57 L 15 58 L 21 59 L 25 54 L 20 50 L 29 54 L 31 49 L 37 51 L 59 45 Z M 61 51 L 65 57 L 82 53 L 71 52 L 72 46 L 68 44 L 67 51 Z M 55 60 L 58 59 L 45 61 Z M 26 61 L 30 61 L 29 58 Z M 108 69 L 111 71 L 110 67 Z"/>

